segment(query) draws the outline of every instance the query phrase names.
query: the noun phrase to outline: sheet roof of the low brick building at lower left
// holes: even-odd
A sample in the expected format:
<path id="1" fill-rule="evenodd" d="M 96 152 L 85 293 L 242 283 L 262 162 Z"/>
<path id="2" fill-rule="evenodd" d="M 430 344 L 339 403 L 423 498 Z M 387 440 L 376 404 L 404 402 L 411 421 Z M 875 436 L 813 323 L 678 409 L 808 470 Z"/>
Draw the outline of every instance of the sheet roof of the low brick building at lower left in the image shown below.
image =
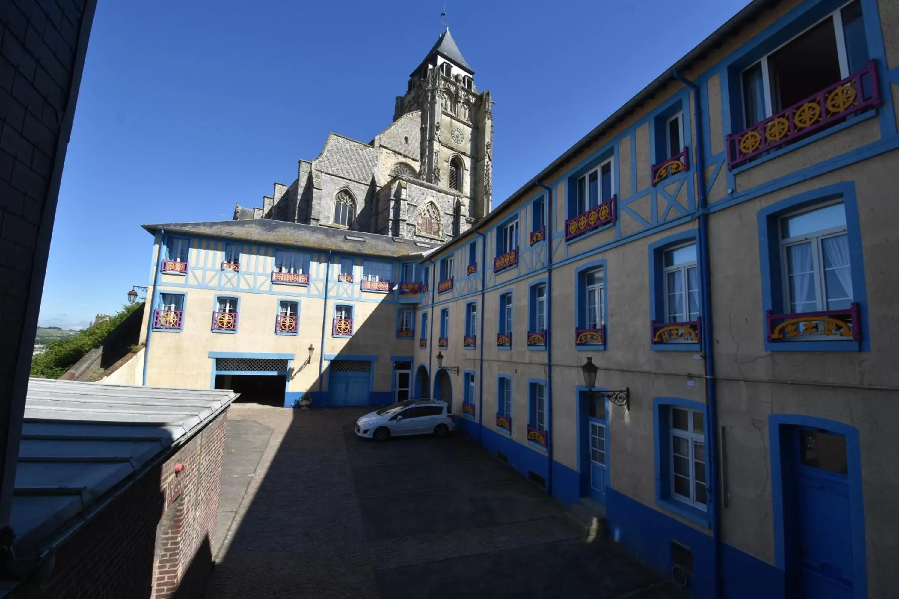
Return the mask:
<path id="1" fill-rule="evenodd" d="M 232 391 L 31 379 L 10 524 L 19 558 L 73 524 L 191 437 L 236 399 Z"/>

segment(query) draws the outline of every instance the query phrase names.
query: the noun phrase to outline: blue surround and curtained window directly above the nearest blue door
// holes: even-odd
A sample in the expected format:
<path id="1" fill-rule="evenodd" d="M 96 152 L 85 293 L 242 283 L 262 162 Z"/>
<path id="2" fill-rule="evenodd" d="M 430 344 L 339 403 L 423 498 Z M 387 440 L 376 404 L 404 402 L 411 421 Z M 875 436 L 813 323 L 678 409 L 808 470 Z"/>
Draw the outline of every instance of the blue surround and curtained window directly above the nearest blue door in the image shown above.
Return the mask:
<path id="1" fill-rule="evenodd" d="M 851 182 L 813 189 L 759 211 L 761 303 L 767 351 L 868 351 L 868 301 L 859 209 Z M 858 305 L 860 340 L 797 335 L 770 340 L 772 314 Z M 800 327 L 805 326 L 803 324 Z"/>

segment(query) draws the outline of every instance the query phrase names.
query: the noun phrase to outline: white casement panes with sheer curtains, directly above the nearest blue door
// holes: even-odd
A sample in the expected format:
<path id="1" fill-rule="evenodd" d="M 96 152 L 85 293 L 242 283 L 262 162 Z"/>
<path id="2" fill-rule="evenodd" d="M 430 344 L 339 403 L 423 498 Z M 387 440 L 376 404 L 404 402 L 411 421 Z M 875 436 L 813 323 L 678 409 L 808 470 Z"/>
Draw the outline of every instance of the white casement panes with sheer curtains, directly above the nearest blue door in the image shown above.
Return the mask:
<path id="1" fill-rule="evenodd" d="M 842 203 L 781 217 L 780 245 L 789 313 L 850 307 L 852 265 Z"/>

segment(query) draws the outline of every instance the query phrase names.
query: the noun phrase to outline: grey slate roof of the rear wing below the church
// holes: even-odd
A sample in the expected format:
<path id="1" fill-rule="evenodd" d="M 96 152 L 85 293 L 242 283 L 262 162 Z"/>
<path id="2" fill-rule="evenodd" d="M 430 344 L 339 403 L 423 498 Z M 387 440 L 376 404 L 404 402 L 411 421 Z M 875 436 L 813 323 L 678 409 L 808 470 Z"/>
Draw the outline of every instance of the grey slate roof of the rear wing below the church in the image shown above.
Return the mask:
<path id="1" fill-rule="evenodd" d="M 271 218 L 209 223 L 170 223 L 143 225 L 143 227 L 150 233 L 165 230 L 166 233 L 200 235 L 201 237 L 225 240 L 238 239 L 282 247 L 299 247 L 319 251 L 332 250 L 344 254 L 384 258 L 410 257 L 417 259 L 423 251 L 440 245 L 440 242 L 419 242 L 377 233 L 334 229 L 322 225 L 287 223 Z"/>

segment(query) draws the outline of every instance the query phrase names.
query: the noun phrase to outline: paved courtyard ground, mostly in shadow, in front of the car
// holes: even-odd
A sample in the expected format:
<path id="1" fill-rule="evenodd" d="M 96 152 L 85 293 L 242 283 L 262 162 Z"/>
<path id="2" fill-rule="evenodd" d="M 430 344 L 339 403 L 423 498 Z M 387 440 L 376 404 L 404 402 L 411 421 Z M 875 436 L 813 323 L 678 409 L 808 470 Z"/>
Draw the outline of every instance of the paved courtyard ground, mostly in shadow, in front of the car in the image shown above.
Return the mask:
<path id="1" fill-rule="evenodd" d="M 232 406 L 208 599 L 685 596 L 466 439 L 362 441 L 363 411 Z"/>

